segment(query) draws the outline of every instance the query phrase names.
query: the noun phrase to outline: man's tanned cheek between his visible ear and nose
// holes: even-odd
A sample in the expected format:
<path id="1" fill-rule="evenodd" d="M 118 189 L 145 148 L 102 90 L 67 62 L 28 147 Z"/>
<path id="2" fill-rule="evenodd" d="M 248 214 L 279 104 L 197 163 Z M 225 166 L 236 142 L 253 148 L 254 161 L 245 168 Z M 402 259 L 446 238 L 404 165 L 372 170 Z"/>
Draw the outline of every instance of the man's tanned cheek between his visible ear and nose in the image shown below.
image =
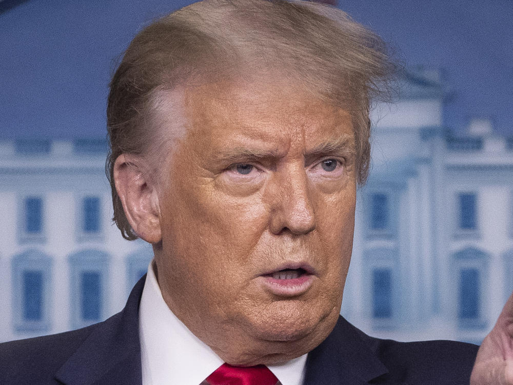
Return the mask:
<path id="1" fill-rule="evenodd" d="M 236 275 L 232 271 L 243 272 L 267 227 L 260 196 L 227 196 L 211 179 L 183 178 L 181 182 L 170 186 L 163 205 L 163 243 L 168 254 L 187 255 L 191 269 L 203 271 L 208 266 L 204 275 L 231 280 Z"/>

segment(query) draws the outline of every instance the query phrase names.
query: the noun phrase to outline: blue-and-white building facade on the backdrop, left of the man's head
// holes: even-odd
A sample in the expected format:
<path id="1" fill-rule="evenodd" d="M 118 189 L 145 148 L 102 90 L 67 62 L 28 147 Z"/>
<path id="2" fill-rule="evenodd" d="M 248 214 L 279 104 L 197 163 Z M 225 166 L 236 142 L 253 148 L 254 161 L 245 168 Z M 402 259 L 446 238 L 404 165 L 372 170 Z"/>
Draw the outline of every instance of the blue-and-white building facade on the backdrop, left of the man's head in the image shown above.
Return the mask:
<path id="1" fill-rule="evenodd" d="M 112 224 L 106 142 L 0 145 L 0 341 L 58 333 L 122 309 L 151 247 Z"/>

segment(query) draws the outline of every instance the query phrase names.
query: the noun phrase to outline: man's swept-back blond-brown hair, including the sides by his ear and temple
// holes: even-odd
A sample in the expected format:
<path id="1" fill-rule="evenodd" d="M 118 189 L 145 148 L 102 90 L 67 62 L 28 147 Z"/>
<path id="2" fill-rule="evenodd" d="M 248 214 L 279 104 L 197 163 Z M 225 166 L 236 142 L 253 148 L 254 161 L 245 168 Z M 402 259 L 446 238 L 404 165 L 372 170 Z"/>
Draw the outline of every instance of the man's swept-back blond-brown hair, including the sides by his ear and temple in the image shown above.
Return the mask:
<path id="1" fill-rule="evenodd" d="M 113 75 L 107 105 L 106 172 L 113 220 L 124 238 L 137 235 L 114 185 L 122 153 L 148 157 L 162 138 L 152 132 L 159 92 L 274 69 L 290 84 L 351 113 L 358 182 L 370 161 L 370 102 L 388 97 L 394 65 L 381 38 L 343 11 L 284 0 L 204 0 L 156 20 L 130 43 Z M 268 72 L 268 73 L 269 73 Z M 258 78 L 257 78 L 258 79 Z"/>

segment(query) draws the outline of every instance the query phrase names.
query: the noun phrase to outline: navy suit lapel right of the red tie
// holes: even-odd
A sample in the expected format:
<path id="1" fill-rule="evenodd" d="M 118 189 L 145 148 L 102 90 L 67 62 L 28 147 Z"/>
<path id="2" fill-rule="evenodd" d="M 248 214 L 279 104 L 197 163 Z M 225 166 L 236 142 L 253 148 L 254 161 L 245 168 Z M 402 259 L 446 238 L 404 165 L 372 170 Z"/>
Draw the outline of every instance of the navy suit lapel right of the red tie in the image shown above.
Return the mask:
<path id="1" fill-rule="evenodd" d="M 308 353 L 304 384 L 365 384 L 387 372 L 357 329 L 339 317 L 328 338 Z"/>

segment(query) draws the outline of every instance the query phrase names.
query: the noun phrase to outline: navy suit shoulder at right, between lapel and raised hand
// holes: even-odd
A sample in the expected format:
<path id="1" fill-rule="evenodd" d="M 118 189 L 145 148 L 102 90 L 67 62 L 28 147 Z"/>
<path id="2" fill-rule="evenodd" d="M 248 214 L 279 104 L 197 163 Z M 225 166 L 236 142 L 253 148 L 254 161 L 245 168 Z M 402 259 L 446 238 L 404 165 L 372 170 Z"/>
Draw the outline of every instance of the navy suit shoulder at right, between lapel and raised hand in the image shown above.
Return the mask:
<path id="1" fill-rule="evenodd" d="M 415 384 L 467 385 L 479 349 L 477 345 L 457 341 L 398 342 L 367 335 L 364 338 L 390 377 Z"/>

